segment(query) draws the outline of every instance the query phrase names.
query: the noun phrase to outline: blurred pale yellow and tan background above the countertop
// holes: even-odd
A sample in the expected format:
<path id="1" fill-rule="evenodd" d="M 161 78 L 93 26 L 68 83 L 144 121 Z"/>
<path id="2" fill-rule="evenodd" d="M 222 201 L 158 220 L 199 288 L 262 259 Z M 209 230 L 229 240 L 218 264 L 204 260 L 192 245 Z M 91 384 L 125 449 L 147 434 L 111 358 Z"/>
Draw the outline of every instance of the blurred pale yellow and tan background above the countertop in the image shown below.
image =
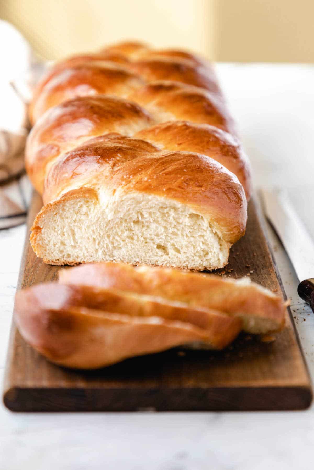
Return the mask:
<path id="1" fill-rule="evenodd" d="M 214 60 L 314 62 L 314 0 L 2 0 L 0 17 L 48 59 L 137 38 Z"/>

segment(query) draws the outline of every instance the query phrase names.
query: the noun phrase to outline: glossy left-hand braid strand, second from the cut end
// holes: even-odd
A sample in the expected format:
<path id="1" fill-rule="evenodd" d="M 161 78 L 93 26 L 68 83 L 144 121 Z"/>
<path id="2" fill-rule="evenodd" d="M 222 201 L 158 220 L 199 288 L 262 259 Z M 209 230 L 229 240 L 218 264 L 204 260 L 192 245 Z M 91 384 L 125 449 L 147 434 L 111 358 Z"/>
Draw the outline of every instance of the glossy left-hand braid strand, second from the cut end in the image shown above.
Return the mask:
<path id="1" fill-rule="evenodd" d="M 43 192 L 46 165 L 94 136 L 119 132 L 131 135 L 153 124 L 135 103 L 109 96 L 85 96 L 49 110 L 33 127 L 25 149 L 25 165 L 32 184 Z"/>

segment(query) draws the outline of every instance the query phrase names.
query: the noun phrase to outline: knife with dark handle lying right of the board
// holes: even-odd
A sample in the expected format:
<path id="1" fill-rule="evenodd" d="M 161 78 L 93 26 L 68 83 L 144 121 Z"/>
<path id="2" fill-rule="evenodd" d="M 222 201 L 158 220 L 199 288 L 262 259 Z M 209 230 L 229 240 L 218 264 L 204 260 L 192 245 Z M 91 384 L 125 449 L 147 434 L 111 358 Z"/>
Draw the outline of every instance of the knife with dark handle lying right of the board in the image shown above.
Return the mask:
<path id="1" fill-rule="evenodd" d="M 298 294 L 314 312 L 314 241 L 291 204 L 287 191 L 262 190 L 265 214 L 299 278 Z"/>

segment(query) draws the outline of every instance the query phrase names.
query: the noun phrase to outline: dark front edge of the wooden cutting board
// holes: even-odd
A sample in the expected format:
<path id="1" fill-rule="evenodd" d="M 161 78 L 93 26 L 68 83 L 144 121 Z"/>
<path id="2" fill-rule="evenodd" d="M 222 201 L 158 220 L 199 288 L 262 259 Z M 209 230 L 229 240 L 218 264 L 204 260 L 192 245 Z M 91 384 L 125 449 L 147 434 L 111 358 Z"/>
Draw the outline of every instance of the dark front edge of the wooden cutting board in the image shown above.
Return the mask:
<path id="1" fill-rule="evenodd" d="M 278 394 L 282 400 L 278 407 Z M 19 388 L 3 396 L 11 411 L 275 411 L 302 410 L 312 402 L 311 389 L 293 387 L 204 388 Z M 138 407 L 138 403 L 141 407 Z M 158 407 L 156 407 L 158 403 Z M 254 405 L 252 406 L 252 403 Z M 265 404 L 267 403 L 267 406 Z"/>

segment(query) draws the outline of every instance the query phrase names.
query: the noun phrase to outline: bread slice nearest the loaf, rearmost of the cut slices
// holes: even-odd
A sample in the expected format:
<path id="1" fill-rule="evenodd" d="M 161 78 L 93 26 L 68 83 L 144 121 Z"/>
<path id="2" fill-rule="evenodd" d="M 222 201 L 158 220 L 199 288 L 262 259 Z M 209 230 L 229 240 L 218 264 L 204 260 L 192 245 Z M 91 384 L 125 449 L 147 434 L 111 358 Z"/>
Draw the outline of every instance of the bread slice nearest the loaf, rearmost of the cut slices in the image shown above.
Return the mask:
<path id="1" fill-rule="evenodd" d="M 239 317 L 242 328 L 253 334 L 279 331 L 285 324 L 287 303 L 283 298 L 248 278 L 233 280 L 213 274 L 101 263 L 62 270 L 59 282 L 136 292 L 218 310 Z"/>

